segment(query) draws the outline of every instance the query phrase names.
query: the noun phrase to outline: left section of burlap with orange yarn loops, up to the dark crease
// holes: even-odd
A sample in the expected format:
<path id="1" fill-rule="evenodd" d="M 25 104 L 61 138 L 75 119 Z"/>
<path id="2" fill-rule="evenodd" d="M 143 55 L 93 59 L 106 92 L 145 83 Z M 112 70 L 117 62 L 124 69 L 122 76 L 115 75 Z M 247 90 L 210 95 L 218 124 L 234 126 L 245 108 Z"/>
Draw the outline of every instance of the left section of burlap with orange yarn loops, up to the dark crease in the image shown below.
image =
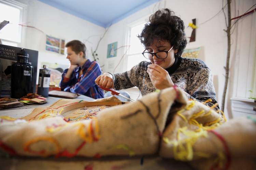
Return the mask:
<path id="1" fill-rule="evenodd" d="M 72 101 L 62 99 L 50 108 L 56 108 L 57 112 L 61 105 Z M 105 109 L 97 117 L 79 122 L 66 122 L 61 116 L 39 119 L 38 108 L 24 117 L 29 120 L 27 123 L 1 123 L 0 140 L 17 155 L 24 156 L 155 154 L 170 108 L 179 110 L 186 102 L 181 89 L 169 88 L 134 103 Z"/>

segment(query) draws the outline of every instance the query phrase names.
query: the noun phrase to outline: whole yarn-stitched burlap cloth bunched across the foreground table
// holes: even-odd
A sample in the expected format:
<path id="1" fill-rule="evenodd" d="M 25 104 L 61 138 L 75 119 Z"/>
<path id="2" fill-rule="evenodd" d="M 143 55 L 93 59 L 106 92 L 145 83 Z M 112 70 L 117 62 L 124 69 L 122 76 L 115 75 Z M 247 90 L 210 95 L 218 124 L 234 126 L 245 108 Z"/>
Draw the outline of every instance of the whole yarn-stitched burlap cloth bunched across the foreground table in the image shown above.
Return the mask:
<path id="1" fill-rule="evenodd" d="M 61 99 L 49 108 L 59 112 L 63 105 L 78 102 Z M 38 109 L 23 118 L 26 122 L 2 119 L 2 151 L 40 157 L 158 154 L 189 162 L 196 169 L 245 165 L 239 163 L 251 169 L 255 165 L 256 118 L 225 122 L 209 106 L 188 100 L 177 87 L 103 109 L 89 120 L 67 122 L 62 116 L 42 117 L 46 112 Z"/>

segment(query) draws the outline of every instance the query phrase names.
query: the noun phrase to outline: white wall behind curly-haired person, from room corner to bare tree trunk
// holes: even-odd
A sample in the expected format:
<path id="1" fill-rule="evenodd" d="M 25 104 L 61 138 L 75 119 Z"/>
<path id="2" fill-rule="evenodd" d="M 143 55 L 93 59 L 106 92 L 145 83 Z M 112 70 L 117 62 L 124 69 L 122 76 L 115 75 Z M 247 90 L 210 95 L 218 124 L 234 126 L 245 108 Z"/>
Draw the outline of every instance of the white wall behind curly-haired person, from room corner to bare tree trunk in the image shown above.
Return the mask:
<path id="1" fill-rule="evenodd" d="M 215 75 L 214 79 L 217 82 L 216 91 L 218 92 L 217 98 L 219 103 L 221 103 L 223 86 L 224 86 L 224 69 L 223 66 L 226 62 L 226 51 L 227 51 L 227 37 L 223 29 L 225 26 L 225 19 L 223 12 L 215 16 L 222 8 L 222 0 L 215 1 L 204 1 L 204 0 L 194 0 L 193 3 L 190 0 L 180 0 L 180 1 L 160 1 L 149 7 L 142 9 L 141 11 L 134 13 L 133 15 L 113 24 L 108 33 L 106 34 L 105 47 L 102 47 L 104 56 L 106 53 L 106 45 L 118 41 L 118 47 L 126 45 L 126 25 L 135 20 L 139 20 L 142 17 L 148 18 L 148 15 L 153 14 L 159 8 L 170 8 L 175 12 L 177 16 L 180 16 L 184 21 L 185 26 L 188 26 L 192 19 L 196 18 L 197 26 L 196 29 L 196 41 L 187 44 L 187 48 L 201 47 L 199 58 L 202 59 L 208 67 L 212 70 L 212 74 Z M 209 20 L 212 18 L 211 20 Z M 208 22 L 205 22 L 209 20 Z M 205 23 L 203 23 L 205 22 Z M 190 37 L 192 29 L 186 28 L 186 35 Z M 189 38 L 188 38 L 189 42 Z M 102 44 L 102 45 L 103 45 Z M 104 63 L 113 61 L 115 62 L 115 67 L 121 60 L 125 52 L 125 48 L 119 49 L 117 51 L 117 57 L 106 58 L 104 57 Z M 115 72 L 123 72 L 126 62 L 125 58 L 122 59 L 119 66 L 116 68 Z M 103 71 L 113 71 L 108 70 L 108 65 L 103 68 Z"/>

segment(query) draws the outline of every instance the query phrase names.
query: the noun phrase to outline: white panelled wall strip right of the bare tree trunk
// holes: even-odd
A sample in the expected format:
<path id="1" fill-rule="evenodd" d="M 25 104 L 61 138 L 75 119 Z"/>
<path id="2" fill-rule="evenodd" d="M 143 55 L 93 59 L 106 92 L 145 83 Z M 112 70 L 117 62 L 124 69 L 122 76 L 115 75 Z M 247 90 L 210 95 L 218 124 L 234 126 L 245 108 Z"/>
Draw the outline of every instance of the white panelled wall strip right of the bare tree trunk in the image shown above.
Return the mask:
<path id="1" fill-rule="evenodd" d="M 247 10 L 255 9 L 256 6 L 252 7 L 254 4 L 256 4 L 256 0 L 244 0 L 237 1 L 236 6 L 239 11 L 244 13 Z M 240 12 L 239 15 L 243 13 Z M 232 15 L 234 16 L 234 11 L 232 11 Z M 256 13 L 240 18 L 234 27 L 236 29 L 232 34 L 230 82 L 226 98 L 228 114 L 231 118 L 256 115 L 256 112 L 253 111 L 253 106 L 255 107 L 256 103 L 254 100 L 248 99 L 248 97 L 255 98 L 249 90 L 256 95 L 256 87 L 253 83 L 256 81 Z"/>

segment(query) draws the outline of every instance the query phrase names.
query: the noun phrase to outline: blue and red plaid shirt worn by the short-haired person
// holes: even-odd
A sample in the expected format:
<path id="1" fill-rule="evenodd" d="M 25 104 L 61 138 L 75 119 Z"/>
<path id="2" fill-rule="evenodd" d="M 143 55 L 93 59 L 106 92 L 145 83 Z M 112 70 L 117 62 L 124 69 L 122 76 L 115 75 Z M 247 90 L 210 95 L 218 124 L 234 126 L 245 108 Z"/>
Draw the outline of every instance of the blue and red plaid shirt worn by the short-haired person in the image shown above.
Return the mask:
<path id="1" fill-rule="evenodd" d="M 62 74 L 62 80 L 60 82 L 62 90 L 82 94 L 94 99 L 104 97 L 103 90 L 95 83 L 95 79 L 101 75 L 101 69 L 98 63 L 91 62 L 88 68 L 83 70 L 83 74 L 80 78 L 78 76 L 79 71 L 75 69 L 68 82 L 63 81 L 63 77 L 65 77 L 66 72 L 67 70 Z"/>

